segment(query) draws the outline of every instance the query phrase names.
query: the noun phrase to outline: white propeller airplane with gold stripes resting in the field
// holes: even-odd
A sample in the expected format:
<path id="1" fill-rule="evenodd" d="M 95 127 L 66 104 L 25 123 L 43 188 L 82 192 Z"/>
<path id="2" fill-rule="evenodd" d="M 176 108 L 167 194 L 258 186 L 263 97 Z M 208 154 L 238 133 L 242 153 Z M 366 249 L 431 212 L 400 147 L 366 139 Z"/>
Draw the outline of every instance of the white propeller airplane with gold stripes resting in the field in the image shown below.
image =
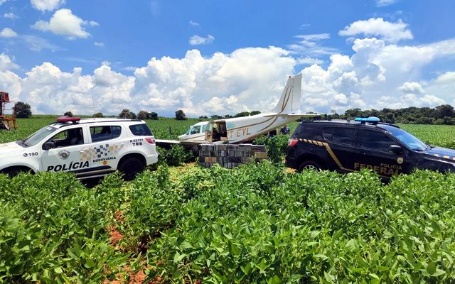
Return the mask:
<path id="1" fill-rule="evenodd" d="M 284 124 L 301 117 L 314 117 L 321 114 L 301 114 L 301 74 L 289 76 L 282 97 L 272 112 L 243 116 L 232 119 L 203 121 L 190 126 L 188 132 L 178 136 L 179 144 L 195 145 L 200 143 L 245 143 L 269 133 Z M 176 141 L 157 140 L 157 143 Z"/>

